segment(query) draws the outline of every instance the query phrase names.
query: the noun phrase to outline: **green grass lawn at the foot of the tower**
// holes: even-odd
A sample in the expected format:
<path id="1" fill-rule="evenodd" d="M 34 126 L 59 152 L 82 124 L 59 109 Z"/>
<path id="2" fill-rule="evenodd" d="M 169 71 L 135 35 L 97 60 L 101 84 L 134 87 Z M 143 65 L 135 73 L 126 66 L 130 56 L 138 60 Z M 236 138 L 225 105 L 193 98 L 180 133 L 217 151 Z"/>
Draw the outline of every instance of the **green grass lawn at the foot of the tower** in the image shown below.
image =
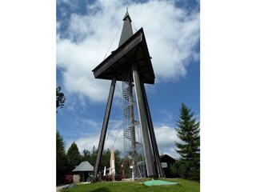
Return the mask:
<path id="1" fill-rule="evenodd" d="M 137 180 L 135 182 L 100 182 L 80 184 L 72 189 L 62 190 L 62 192 L 134 192 L 134 191 L 153 191 L 153 192 L 199 192 L 200 183 L 191 182 L 181 178 L 161 179 L 169 182 L 179 182 L 169 186 L 144 186 L 141 182 L 149 179 Z"/>

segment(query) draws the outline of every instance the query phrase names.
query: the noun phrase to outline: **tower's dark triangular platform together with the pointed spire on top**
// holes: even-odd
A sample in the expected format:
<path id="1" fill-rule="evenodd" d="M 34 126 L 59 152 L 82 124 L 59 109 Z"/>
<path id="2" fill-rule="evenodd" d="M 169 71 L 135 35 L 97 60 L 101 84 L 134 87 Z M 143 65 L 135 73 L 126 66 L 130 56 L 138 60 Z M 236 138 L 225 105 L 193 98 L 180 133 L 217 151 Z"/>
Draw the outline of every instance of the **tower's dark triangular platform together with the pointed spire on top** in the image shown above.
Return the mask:
<path id="1" fill-rule="evenodd" d="M 112 51 L 110 56 L 94 68 L 94 78 L 110 80 L 116 78 L 117 81 L 122 81 L 123 71 L 137 62 L 142 82 L 154 84 L 154 70 L 144 31 L 141 28 L 133 34 L 128 10 L 126 10 L 123 21 L 118 49 Z"/>

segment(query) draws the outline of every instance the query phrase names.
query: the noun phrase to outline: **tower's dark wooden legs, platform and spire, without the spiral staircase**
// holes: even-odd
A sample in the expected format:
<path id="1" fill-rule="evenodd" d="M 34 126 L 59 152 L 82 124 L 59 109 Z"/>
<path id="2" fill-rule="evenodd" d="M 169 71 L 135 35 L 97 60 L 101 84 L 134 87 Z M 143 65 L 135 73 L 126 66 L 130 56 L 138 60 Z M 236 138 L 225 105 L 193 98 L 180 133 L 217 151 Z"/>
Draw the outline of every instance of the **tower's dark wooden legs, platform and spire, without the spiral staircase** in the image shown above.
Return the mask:
<path id="1" fill-rule="evenodd" d="M 153 122 L 150 115 L 150 107 L 146 98 L 144 83 L 154 84 L 154 70 L 150 60 L 149 50 L 146 45 L 146 38 L 141 28 L 133 34 L 131 19 L 126 10 L 123 18 L 122 34 L 118 49 L 114 50 L 109 57 L 101 62 L 94 70 L 94 78 L 111 80 L 110 93 L 106 104 L 106 112 L 102 123 L 102 133 L 98 144 L 98 155 L 94 167 L 94 177 L 98 174 L 98 166 L 101 161 L 102 151 L 106 138 L 106 130 L 110 118 L 114 89 L 116 81 L 124 81 L 124 74 L 129 75 L 129 84 L 134 86 L 136 102 L 138 107 L 138 118 L 142 132 L 142 144 L 144 148 L 146 173 L 148 177 L 163 177 L 162 166 L 158 153 L 158 146 L 155 139 Z M 132 89 L 130 89 L 132 90 Z M 130 114 L 133 114 L 133 107 L 130 107 Z M 130 115 L 131 124 L 134 121 Z M 135 145 L 133 129 L 131 127 L 131 141 Z M 135 146 L 134 146 L 135 148 Z M 136 154 L 133 152 L 133 163 Z"/>

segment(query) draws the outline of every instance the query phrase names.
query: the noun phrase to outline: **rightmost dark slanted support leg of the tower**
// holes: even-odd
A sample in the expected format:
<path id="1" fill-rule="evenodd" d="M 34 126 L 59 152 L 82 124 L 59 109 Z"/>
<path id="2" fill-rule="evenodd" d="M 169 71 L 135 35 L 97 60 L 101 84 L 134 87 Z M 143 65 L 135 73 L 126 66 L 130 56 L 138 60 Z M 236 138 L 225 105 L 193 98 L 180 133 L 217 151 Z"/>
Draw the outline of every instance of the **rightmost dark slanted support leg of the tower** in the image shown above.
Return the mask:
<path id="1" fill-rule="evenodd" d="M 144 104 L 146 106 L 146 118 L 147 118 L 147 122 L 148 122 L 148 126 L 149 126 L 149 132 L 150 132 L 150 140 L 151 140 L 151 144 L 152 144 L 152 148 L 153 148 L 153 152 L 154 152 L 154 160 L 157 166 L 157 172 L 158 172 L 158 178 L 163 178 L 164 177 L 164 172 L 162 171 L 162 165 L 161 165 L 161 160 L 160 160 L 160 156 L 159 156 L 159 152 L 158 152 L 158 144 L 155 138 L 155 134 L 154 134 L 154 126 L 153 126 L 153 122 L 152 122 L 152 118 L 151 118 L 151 114 L 150 114 L 150 107 L 146 98 L 146 90 L 145 90 L 145 86 L 142 83 L 142 95 L 143 95 L 143 100 L 144 100 Z"/>

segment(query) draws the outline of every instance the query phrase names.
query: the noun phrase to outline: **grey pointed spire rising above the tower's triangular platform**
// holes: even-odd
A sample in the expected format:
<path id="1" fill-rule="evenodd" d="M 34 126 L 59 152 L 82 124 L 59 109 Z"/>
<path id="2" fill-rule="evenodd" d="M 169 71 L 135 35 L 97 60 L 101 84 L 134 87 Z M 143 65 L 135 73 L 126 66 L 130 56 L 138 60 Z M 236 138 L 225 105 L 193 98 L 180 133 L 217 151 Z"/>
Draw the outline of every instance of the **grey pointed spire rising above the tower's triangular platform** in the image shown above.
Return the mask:
<path id="1" fill-rule="evenodd" d="M 126 10 L 126 14 L 122 19 L 123 26 L 122 26 L 122 34 L 119 40 L 118 46 L 121 46 L 128 38 L 130 38 L 133 35 L 133 30 L 131 28 L 131 19 L 130 15 L 128 13 L 128 9 Z"/>

